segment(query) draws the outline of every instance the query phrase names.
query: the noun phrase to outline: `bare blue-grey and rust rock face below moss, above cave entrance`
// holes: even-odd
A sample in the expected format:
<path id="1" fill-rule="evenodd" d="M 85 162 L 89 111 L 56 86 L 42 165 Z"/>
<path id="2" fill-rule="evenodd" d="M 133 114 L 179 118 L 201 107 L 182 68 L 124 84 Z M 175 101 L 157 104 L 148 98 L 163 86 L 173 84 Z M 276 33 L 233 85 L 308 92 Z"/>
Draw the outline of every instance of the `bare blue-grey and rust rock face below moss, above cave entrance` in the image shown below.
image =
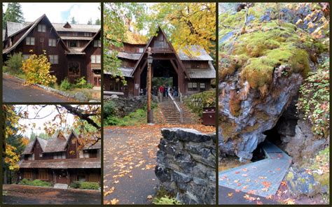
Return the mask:
<path id="1" fill-rule="evenodd" d="M 265 131 L 275 127 L 286 107 L 296 96 L 302 83 L 302 76 L 293 73 L 291 76 L 279 76 L 276 69 L 272 90 L 265 97 L 257 90 L 248 89 L 246 84 L 239 85 L 237 78 L 221 82 L 219 88 L 219 149 L 221 153 L 237 155 L 240 159 L 251 159 L 257 145 L 265 140 Z M 236 77 L 236 75 L 235 75 Z M 234 100 L 235 99 L 235 100 Z M 237 104 L 238 114 L 233 113 Z"/>

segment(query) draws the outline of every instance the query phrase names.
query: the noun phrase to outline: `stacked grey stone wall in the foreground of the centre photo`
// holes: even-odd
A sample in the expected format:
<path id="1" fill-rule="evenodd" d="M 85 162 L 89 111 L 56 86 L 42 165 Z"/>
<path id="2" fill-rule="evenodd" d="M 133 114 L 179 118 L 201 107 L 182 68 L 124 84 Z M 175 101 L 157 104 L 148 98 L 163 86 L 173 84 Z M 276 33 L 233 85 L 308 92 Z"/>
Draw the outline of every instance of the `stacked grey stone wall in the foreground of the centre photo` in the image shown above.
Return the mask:
<path id="1" fill-rule="evenodd" d="M 155 175 L 183 204 L 216 204 L 216 136 L 162 129 Z"/>

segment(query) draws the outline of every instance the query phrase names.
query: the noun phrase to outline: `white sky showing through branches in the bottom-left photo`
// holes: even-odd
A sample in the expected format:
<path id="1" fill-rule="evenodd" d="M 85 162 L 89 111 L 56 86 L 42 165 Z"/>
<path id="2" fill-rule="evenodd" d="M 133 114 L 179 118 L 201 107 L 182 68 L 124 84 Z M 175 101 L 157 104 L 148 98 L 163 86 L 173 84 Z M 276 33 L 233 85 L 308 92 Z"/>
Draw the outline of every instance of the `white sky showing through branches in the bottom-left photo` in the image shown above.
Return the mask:
<path id="1" fill-rule="evenodd" d="M 37 105 L 38 106 L 38 105 Z M 32 131 L 34 131 L 35 134 L 41 134 L 44 133 L 45 131 L 43 130 L 44 126 L 43 124 L 45 122 L 48 122 L 50 120 L 53 120 L 55 115 L 58 114 L 57 110 L 55 109 L 55 106 L 53 105 L 48 105 L 45 108 L 43 108 L 39 112 L 39 118 L 44 117 L 42 119 L 32 119 L 33 117 L 36 117 L 36 113 L 41 108 L 40 106 L 38 108 L 33 108 L 31 105 L 15 105 L 15 108 L 23 108 L 23 111 L 28 111 L 29 112 L 29 119 L 20 119 L 19 124 L 25 124 L 29 125 L 30 127 L 27 127 L 25 132 L 20 131 L 20 133 L 27 137 L 30 138 L 30 134 L 32 134 Z M 56 121 L 56 120 L 55 120 Z M 32 128 L 32 124 L 35 123 L 36 127 Z M 74 115 L 71 115 L 67 113 L 67 126 L 71 126 L 74 123 Z"/>

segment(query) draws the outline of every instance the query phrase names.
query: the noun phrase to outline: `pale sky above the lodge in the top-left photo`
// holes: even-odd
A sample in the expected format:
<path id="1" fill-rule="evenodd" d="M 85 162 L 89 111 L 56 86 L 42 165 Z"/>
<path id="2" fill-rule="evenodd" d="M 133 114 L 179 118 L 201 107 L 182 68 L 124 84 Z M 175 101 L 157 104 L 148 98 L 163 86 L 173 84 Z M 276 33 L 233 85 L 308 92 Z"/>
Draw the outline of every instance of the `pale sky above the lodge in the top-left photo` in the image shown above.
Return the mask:
<path id="1" fill-rule="evenodd" d="M 41 15 L 46 14 L 50 22 L 66 23 L 75 17 L 79 24 L 87 24 L 90 18 L 92 23 L 101 19 L 99 3 L 20 3 L 26 22 L 33 22 Z M 4 3 L 4 12 L 7 3 Z"/>

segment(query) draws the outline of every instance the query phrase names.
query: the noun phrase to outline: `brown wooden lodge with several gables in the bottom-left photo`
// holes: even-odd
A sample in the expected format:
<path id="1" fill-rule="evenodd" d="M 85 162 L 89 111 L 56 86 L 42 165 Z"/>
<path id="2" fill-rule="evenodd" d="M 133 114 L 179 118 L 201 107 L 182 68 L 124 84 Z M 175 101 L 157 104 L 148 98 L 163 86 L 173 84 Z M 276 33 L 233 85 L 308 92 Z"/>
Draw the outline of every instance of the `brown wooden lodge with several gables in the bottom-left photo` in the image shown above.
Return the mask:
<path id="1" fill-rule="evenodd" d="M 100 141 L 90 147 L 80 147 L 78 136 L 57 134 L 48 140 L 36 136 L 22 153 L 21 178 L 46 180 L 70 185 L 74 181 L 100 183 Z"/>

